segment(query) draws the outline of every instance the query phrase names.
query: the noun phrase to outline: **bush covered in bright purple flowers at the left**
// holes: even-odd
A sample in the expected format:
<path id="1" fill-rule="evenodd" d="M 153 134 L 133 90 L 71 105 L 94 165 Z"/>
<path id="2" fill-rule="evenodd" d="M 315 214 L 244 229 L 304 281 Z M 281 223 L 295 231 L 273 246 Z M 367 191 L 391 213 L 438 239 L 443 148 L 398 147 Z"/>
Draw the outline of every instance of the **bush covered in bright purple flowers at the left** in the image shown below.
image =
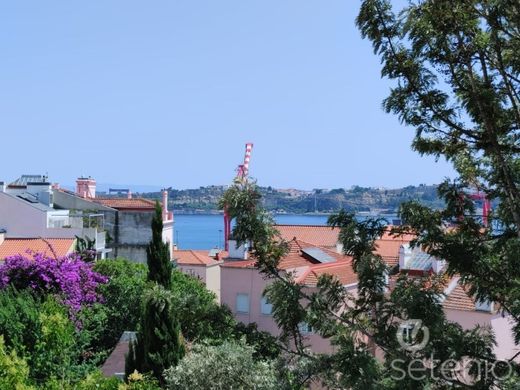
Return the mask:
<path id="1" fill-rule="evenodd" d="M 59 258 L 42 253 L 11 256 L 0 266 L 0 288 L 13 286 L 36 294 L 55 294 L 75 313 L 103 299 L 96 290 L 108 278 L 93 271 L 92 266 L 76 253 Z"/>

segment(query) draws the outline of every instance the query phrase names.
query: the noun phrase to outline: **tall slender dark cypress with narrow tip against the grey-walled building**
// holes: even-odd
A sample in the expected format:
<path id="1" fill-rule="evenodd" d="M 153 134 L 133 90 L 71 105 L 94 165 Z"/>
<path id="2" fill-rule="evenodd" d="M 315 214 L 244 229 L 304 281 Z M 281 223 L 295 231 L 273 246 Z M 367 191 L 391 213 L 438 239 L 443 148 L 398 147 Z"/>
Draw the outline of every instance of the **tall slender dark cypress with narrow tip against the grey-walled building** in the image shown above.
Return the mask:
<path id="1" fill-rule="evenodd" d="M 172 265 L 168 244 L 162 239 L 162 208 L 155 202 L 155 215 L 152 219 L 152 240 L 146 248 L 148 280 L 161 284 L 165 289 L 171 287 Z"/>

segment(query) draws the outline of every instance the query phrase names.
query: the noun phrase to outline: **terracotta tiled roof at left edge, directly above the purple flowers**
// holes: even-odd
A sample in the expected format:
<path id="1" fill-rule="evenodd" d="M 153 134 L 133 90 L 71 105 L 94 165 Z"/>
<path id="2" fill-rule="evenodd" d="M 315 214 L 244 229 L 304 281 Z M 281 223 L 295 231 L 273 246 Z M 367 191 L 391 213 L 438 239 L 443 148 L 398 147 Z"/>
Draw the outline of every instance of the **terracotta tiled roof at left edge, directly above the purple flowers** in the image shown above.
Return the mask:
<path id="1" fill-rule="evenodd" d="M 73 238 L 47 238 L 45 241 L 41 238 L 6 238 L 0 244 L 0 259 L 18 254 L 25 255 L 27 251 L 52 255 L 49 245 L 52 246 L 58 257 L 65 256 L 74 250 Z"/>

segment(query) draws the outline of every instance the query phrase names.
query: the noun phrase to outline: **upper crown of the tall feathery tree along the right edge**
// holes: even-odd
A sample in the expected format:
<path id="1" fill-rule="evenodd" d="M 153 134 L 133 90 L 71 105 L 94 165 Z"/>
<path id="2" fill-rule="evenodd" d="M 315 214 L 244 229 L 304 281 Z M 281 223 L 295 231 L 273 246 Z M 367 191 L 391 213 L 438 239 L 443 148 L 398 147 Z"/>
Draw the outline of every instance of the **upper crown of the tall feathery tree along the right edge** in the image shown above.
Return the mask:
<path id="1" fill-rule="evenodd" d="M 364 1 L 357 24 L 397 82 L 387 111 L 416 129 L 413 147 L 444 156 L 460 177 L 439 188 L 446 208 L 401 206 L 416 245 L 447 260 L 480 300 L 499 303 L 520 341 L 520 6 L 512 0 L 419 1 L 397 13 Z M 473 188 L 493 201 L 483 229 Z M 445 229 L 454 225 L 454 229 Z"/>

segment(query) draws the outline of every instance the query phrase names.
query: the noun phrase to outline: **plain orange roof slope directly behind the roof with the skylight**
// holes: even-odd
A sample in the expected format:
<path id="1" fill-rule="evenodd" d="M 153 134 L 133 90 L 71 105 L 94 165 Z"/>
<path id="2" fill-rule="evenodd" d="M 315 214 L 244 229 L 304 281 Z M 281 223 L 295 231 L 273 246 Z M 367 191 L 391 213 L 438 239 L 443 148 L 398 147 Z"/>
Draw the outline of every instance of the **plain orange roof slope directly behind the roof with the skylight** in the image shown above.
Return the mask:
<path id="1" fill-rule="evenodd" d="M 293 238 L 325 248 L 336 248 L 339 229 L 321 225 L 276 225 L 285 241 Z"/>

